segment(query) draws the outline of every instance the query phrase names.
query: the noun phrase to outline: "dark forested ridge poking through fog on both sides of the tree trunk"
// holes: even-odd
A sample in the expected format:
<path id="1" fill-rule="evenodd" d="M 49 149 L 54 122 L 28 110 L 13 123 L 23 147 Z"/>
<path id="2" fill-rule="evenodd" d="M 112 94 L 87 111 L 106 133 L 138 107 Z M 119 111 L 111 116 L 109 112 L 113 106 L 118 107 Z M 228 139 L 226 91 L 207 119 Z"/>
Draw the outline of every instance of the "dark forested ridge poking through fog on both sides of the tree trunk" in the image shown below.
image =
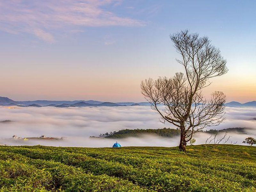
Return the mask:
<path id="1" fill-rule="evenodd" d="M 210 134 L 216 134 L 218 132 L 239 132 L 246 133 L 246 128 L 236 127 L 222 130 L 209 130 L 202 131 Z M 156 134 L 160 137 L 175 137 L 180 135 L 179 129 L 163 128 L 163 129 L 122 129 L 120 131 L 106 132 L 100 134 L 100 138 L 127 138 L 127 137 L 140 137 L 143 134 Z"/>

